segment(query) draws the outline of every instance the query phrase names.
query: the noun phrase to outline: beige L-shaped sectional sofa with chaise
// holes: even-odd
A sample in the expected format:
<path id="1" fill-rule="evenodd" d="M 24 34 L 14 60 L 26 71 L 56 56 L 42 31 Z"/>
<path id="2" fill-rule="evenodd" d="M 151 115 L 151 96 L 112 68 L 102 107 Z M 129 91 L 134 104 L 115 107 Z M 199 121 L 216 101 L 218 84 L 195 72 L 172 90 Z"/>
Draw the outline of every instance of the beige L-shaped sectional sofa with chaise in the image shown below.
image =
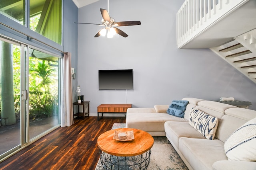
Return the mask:
<path id="1" fill-rule="evenodd" d="M 256 111 L 197 98 L 182 101 L 188 101 L 184 117 L 166 113 L 169 105 L 129 108 L 126 127 L 166 136 L 190 170 L 256 170 Z"/>

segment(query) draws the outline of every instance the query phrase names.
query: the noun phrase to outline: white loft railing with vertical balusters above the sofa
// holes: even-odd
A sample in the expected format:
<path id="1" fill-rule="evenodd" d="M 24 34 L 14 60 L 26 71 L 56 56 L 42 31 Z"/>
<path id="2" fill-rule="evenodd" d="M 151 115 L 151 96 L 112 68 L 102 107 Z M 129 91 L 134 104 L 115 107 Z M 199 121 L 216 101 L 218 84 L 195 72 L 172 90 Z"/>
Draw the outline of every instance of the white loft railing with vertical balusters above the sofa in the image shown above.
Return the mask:
<path id="1" fill-rule="evenodd" d="M 185 0 L 176 14 L 178 48 L 249 0 Z"/>

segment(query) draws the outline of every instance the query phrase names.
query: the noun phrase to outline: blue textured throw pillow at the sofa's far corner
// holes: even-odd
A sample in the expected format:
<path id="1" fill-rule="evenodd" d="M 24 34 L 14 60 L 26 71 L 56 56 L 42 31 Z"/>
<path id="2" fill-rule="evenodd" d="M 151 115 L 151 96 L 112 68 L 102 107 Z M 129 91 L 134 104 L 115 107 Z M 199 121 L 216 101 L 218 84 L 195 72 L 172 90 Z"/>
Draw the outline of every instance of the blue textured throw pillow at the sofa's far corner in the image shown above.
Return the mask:
<path id="1" fill-rule="evenodd" d="M 167 109 L 167 113 L 169 115 L 184 118 L 184 111 L 186 110 L 187 105 L 187 100 L 173 100 L 172 104 L 170 104 L 169 108 Z"/>

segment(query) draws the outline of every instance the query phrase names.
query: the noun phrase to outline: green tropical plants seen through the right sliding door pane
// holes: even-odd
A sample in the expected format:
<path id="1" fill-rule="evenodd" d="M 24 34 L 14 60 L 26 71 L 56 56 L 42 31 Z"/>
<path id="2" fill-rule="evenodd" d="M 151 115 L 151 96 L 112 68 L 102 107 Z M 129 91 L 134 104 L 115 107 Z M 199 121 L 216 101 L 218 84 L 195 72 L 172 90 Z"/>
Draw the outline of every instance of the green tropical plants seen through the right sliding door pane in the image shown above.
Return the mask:
<path id="1" fill-rule="evenodd" d="M 55 68 L 49 66 L 47 61 L 34 61 L 30 58 L 30 118 L 32 120 L 40 117 L 49 117 L 54 115 L 58 104 L 58 87 L 56 87 L 56 78 L 58 74 Z M 53 89 L 57 89 L 54 90 Z"/>

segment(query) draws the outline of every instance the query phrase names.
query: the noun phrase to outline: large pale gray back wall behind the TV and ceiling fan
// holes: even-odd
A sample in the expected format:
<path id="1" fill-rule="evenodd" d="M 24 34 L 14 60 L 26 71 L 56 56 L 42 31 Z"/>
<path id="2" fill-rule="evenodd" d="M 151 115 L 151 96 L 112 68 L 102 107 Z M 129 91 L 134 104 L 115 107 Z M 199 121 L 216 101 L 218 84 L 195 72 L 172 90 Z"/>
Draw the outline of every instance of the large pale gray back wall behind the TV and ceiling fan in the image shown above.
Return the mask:
<path id="1" fill-rule="evenodd" d="M 90 112 L 100 104 L 123 104 L 126 90 L 98 90 L 98 70 L 133 69 L 134 89 L 127 90 L 133 107 L 170 104 L 184 97 L 219 100 L 234 97 L 252 102 L 256 84 L 210 49 L 177 49 L 176 12 L 184 0 L 111 0 L 116 21 L 140 20 L 142 25 L 119 27 L 129 36 L 94 38 L 102 27 L 78 25 L 78 84 Z M 78 21 L 100 23 L 101 0 L 78 9 Z"/>

